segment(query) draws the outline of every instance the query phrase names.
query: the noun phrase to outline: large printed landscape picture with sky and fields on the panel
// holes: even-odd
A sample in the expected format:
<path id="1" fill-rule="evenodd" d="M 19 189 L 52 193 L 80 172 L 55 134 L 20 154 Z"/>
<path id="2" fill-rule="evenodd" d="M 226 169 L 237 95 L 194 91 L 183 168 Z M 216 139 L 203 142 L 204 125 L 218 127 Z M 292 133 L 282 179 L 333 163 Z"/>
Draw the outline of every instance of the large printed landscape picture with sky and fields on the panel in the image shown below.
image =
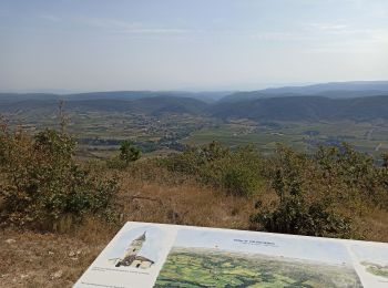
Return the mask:
<path id="1" fill-rule="evenodd" d="M 180 229 L 155 287 L 363 286 L 339 243 Z"/>

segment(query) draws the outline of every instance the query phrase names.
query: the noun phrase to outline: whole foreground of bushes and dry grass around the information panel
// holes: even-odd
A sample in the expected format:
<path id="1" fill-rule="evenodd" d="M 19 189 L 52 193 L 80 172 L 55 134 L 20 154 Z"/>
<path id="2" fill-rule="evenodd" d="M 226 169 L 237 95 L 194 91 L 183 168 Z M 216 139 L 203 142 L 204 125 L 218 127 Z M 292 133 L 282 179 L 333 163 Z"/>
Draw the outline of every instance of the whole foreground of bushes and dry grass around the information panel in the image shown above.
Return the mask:
<path id="1" fill-rule="evenodd" d="M 263 156 L 213 142 L 140 158 L 123 142 L 108 162 L 80 162 L 74 148 L 64 130 L 29 135 L 2 125 L 8 287 L 47 286 L 45 270 L 52 287 L 70 286 L 127 220 L 388 240 L 387 155 L 377 166 L 347 144 L 313 155 L 278 146 Z"/>

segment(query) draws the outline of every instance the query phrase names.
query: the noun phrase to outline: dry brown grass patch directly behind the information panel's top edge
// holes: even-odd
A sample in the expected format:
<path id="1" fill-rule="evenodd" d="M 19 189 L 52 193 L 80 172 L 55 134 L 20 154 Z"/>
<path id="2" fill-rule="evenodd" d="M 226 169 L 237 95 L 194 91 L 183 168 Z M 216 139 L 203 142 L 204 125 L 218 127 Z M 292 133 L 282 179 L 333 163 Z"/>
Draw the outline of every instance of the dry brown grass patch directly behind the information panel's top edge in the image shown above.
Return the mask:
<path id="1" fill-rule="evenodd" d="M 120 194 L 122 218 L 246 229 L 253 200 L 225 196 L 195 183 L 163 185 L 125 179 Z"/>

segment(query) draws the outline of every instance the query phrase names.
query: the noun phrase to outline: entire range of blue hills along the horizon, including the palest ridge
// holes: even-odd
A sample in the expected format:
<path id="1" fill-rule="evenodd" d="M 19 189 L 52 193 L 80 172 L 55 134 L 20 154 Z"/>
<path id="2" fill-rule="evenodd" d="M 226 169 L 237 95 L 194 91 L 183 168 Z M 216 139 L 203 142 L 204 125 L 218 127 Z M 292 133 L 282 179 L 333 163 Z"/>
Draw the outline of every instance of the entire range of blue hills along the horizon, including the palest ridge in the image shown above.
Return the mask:
<path id="1" fill-rule="evenodd" d="M 0 93 L 0 113 L 52 115 L 59 100 L 79 113 L 187 113 L 218 119 L 320 121 L 388 117 L 388 81 L 344 82 L 238 92 L 116 91 L 57 95 Z M 310 95 L 314 94 L 314 95 Z M 213 96 L 213 99 L 212 99 Z"/>

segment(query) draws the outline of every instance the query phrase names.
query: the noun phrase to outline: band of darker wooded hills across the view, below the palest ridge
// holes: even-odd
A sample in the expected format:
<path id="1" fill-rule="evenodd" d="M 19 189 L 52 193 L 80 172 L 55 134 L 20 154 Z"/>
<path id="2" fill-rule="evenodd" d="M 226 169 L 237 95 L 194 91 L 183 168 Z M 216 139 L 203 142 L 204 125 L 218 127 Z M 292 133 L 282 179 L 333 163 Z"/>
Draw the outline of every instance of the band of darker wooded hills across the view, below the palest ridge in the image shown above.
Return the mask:
<path id="1" fill-rule="evenodd" d="M 216 119 L 251 119 L 261 121 L 323 121 L 387 119 L 388 92 L 384 95 L 331 99 L 317 95 L 294 95 L 276 97 L 242 97 L 238 101 L 204 102 L 184 95 L 156 95 L 120 97 L 115 93 L 102 94 L 101 99 L 67 100 L 68 112 L 76 113 L 134 113 L 159 116 L 167 113 L 202 115 Z M 18 100 L 0 95 L 0 112 L 7 114 L 50 115 L 63 96 L 48 97 L 30 95 Z M 32 114 L 31 114 L 32 113 Z M 35 113 L 35 114 L 33 114 Z"/>

